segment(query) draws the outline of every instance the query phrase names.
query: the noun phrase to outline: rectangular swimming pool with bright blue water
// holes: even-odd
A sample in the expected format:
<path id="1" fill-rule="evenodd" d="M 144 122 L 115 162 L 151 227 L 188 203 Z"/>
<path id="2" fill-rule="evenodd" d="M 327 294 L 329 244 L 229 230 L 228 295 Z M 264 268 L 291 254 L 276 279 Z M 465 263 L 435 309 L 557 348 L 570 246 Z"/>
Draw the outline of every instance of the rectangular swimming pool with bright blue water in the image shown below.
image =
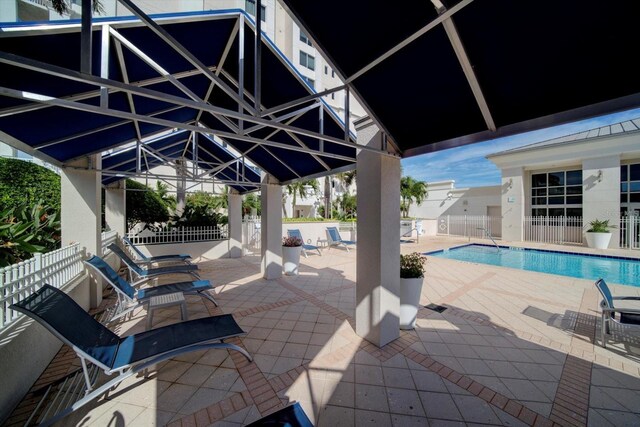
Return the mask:
<path id="1" fill-rule="evenodd" d="M 568 252 L 471 244 L 428 252 L 425 255 L 458 261 L 491 264 L 540 273 L 559 274 L 640 287 L 640 260 L 613 256 L 577 255 Z"/>

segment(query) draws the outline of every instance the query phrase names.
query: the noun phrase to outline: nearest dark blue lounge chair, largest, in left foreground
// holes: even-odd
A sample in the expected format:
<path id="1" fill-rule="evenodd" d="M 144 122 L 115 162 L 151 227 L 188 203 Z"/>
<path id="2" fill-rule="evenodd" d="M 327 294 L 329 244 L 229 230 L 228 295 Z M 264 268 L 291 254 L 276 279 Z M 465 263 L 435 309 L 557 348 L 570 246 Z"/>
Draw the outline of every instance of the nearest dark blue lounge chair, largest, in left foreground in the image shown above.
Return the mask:
<path id="1" fill-rule="evenodd" d="M 82 370 L 72 379 L 67 376 L 63 382 L 56 384 L 62 396 L 49 390 L 51 393 L 48 397 L 54 396 L 57 402 L 43 404 L 46 406 L 45 413 L 34 414 L 36 419 L 30 420 L 40 425 L 53 424 L 125 379 L 184 353 L 220 348 L 238 351 L 252 361 L 246 350 L 224 342 L 245 334 L 230 314 L 174 323 L 120 337 L 95 320 L 67 294 L 49 285 L 44 285 L 11 308 L 42 324 L 71 347 L 82 362 Z M 100 370 L 115 377 L 98 385 Z"/>

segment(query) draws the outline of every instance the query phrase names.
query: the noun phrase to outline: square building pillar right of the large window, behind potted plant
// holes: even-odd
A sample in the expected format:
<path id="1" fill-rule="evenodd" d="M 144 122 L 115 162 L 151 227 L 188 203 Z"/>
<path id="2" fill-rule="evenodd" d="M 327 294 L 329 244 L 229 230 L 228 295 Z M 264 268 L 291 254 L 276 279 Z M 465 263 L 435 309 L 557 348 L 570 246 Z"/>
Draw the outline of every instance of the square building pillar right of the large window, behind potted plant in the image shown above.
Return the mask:
<path id="1" fill-rule="evenodd" d="M 582 219 L 585 231 L 594 219 L 620 225 L 620 156 L 582 161 Z M 610 248 L 620 247 L 620 229 L 611 231 Z"/>

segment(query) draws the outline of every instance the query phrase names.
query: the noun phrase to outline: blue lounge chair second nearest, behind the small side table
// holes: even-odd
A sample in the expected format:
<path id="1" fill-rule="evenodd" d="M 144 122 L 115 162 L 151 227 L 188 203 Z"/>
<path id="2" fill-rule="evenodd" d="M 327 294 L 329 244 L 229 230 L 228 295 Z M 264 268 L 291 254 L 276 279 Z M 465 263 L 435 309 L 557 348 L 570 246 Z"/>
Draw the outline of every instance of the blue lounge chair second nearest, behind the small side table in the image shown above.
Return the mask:
<path id="1" fill-rule="evenodd" d="M 175 292 L 199 294 L 207 298 L 216 306 L 218 305 L 216 300 L 206 292 L 213 290 L 213 286 L 211 286 L 211 283 L 208 280 L 169 283 L 166 285 L 154 286 L 152 288 L 136 290 L 129 282 L 118 276 L 118 273 L 102 258 L 92 256 L 88 260 L 85 260 L 84 263 L 104 277 L 113 289 L 115 289 L 116 294 L 118 295 L 118 302 L 116 303 L 110 321 L 130 313 L 142 304 L 148 303 L 151 297 L 173 294 Z"/>

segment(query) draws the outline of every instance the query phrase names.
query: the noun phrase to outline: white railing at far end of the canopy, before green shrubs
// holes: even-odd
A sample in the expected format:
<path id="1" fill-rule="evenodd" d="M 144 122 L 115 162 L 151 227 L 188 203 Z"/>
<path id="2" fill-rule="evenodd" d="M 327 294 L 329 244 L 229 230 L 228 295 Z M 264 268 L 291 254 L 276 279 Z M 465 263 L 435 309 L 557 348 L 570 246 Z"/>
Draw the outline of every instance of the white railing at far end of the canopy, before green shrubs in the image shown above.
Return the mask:
<path id="1" fill-rule="evenodd" d="M 159 245 L 166 243 L 208 242 L 229 238 L 226 225 L 216 227 L 178 227 L 170 230 L 127 233 L 127 237 L 134 245 Z"/>

